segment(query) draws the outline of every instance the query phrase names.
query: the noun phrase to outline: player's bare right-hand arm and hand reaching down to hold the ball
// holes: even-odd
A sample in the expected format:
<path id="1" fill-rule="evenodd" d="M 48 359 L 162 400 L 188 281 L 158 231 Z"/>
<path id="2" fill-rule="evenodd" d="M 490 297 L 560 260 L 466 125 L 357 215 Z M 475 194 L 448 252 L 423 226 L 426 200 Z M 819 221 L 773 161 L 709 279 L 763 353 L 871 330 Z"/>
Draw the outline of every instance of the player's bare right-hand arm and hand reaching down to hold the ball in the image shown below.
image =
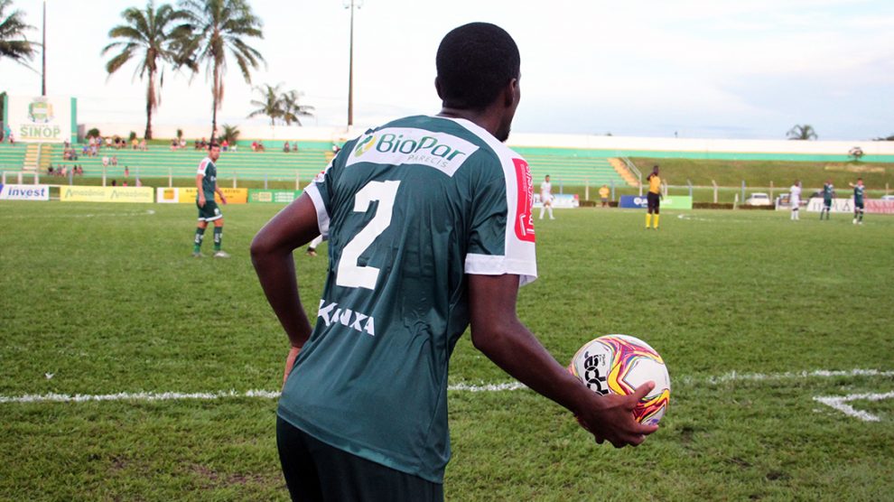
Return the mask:
<path id="1" fill-rule="evenodd" d="M 470 274 L 471 337 L 475 347 L 519 382 L 570 410 L 597 442 L 638 445 L 657 426 L 638 423 L 633 409 L 654 384 L 633 395 L 596 395 L 573 377 L 518 320 L 518 276 Z"/>

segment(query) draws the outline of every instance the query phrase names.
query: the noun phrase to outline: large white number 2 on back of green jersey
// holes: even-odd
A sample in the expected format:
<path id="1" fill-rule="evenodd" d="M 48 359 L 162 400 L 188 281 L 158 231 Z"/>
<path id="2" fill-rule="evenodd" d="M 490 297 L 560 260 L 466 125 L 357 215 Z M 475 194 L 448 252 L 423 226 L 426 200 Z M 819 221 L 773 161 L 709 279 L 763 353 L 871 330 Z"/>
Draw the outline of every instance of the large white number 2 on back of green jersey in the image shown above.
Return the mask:
<path id="1" fill-rule="evenodd" d="M 354 238 L 341 250 L 339 269 L 336 271 L 335 284 L 346 288 L 375 289 L 379 269 L 374 266 L 359 266 L 360 255 L 372 246 L 376 237 L 391 226 L 394 215 L 397 186 L 400 181 L 369 181 L 354 196 L 354 210 L 367 212 L 370 202 L 378 200 L 378 209 L 366 227 L 361 228 Z"/>

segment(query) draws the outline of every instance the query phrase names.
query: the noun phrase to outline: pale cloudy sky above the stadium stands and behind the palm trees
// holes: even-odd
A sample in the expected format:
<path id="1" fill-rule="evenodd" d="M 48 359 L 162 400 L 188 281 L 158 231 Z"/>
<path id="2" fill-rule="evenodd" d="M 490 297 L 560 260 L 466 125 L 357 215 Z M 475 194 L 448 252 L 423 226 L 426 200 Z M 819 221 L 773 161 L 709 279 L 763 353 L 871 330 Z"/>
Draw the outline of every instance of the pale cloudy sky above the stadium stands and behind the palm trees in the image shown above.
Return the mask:
<path id="1" fill-rule="evenodd" d="M 265 38 L 249 43 L 266 60 L 252 84 L 302 91 L 317 111 L 305 125 L 347 123 L 346 3 L 250 2 Z M 42 4 L 13 2 L 38 28 Z M 135 64 L 108 78 L 100 51 L 121 11 L 145 4 L 47 0 L 47 92 L 79 98 L 79 122 L 144 124 Z M 518 43 L 517 132 L 782 139 L 809 124 L 828 140 L 894 134 L 891 0 L 364 0 L 354 17 L 355 125 L 436 113 L 434 53 L 471 21 L 497 23 Z M 40 75 L 0 60 L 0 90 L 40 94 Z M 253 96 L 232 65 L 219 122 L 264 123 L 246 118 Z M 155 124 L 210 124 L 210 107 L 204 74 L 169 71 Z"/>

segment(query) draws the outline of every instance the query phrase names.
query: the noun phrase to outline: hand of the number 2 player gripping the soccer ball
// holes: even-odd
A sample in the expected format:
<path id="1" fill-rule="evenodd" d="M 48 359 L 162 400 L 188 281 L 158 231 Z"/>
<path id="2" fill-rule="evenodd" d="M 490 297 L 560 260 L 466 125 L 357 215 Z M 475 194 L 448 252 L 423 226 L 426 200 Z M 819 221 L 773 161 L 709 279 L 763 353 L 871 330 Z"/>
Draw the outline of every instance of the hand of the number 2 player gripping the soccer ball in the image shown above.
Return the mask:
<path id="1" fill-rule="evenodd" d="M 638 446 L 658 430 L 657 425 L 643 425 L 633 417 L 634 408 L 653 388 L 655 382 L 647 382 L 631 395 L 594 395 L 595 406 L 579 414 L 577 420 L 600 444 L 608 441 L 615 448 Z"/>

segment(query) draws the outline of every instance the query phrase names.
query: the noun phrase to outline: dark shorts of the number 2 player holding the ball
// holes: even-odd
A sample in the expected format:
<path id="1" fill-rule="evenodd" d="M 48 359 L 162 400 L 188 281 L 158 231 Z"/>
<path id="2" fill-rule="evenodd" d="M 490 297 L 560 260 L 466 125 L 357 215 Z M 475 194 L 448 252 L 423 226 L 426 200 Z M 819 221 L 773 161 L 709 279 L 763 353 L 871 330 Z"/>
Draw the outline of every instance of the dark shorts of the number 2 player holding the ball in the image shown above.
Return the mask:
<path id="1" fill-rule="evenodd" d="M 276 446 L 292 500 L 442 502 L 444 487 L 339 450 L 276 417 Z"/>

